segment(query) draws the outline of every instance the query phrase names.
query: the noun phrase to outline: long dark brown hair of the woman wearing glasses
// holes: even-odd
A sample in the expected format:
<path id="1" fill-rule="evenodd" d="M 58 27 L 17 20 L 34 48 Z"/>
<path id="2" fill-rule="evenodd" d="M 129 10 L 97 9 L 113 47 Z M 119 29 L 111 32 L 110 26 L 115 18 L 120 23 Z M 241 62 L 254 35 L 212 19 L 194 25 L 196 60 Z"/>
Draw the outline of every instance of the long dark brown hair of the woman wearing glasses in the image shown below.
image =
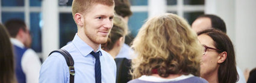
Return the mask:
<path id="1" fill-rule="evenodd" d="M 234 83 L 238 79 L 237 69 L 236 69 L 236 56 L 234 53 L 234 47 L 229 39 L 229 37 L 220 30 L 217 29 L 208 29 L 202 32 L 199 32 L 198 35 L 208 35 L 214 41 L 214 46 L 221 51 L 226 51 L 227 56 L 226 60 L 223 63 L 220 63 L 218 69 L 218 79 L 220 83 Z"/>

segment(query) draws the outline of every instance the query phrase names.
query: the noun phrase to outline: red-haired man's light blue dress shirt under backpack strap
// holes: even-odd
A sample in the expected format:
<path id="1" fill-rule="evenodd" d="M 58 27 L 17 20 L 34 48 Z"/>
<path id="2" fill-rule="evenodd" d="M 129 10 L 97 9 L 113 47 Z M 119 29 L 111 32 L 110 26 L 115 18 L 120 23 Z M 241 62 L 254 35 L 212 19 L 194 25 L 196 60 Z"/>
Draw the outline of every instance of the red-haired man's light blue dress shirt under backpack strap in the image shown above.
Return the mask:
<path id="1" fill-rule="evenodd" d="M 95 83 L 95 57 L 90 54 L 93 48 L 86 44 L 76 33 L 72 43 L 63 48 L 70 53 L 75 62 L 75 83 Z M 101 49 L 99 57 L 101 62 L 102 83 L 116 82 L 116 63 L 113 57 Z M 52 53 L 40 70 L 40 83 L 69 83 L 69 67 L 60 53 Z"/>

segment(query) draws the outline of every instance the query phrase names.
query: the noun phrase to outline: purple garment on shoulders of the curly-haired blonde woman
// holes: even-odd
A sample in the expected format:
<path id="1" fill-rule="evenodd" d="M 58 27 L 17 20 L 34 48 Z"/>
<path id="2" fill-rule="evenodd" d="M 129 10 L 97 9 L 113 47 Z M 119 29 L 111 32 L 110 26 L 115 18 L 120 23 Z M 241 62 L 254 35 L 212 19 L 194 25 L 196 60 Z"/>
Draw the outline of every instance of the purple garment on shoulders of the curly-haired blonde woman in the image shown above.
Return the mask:
<path id="1" fill-rule="evenodd" d="M 151 82 L 151 81 L 143 81 L 140 79 L 133 79 L 128 83 L 208 83 L 205 79 L 199 78 L 197 76 L 192 76 L 187 79 L 182 79 L 179 81 L 169 81 L 169 82 Z"/>

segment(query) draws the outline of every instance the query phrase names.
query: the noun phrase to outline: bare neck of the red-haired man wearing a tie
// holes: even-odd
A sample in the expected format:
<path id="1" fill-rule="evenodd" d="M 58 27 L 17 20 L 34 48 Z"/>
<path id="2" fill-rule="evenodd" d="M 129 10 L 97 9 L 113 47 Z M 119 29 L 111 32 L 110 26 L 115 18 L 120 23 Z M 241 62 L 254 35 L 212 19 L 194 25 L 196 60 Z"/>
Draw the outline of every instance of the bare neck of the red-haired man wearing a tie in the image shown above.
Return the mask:
<path id="1" fill-rule="evenodd" d="M 90 41 L 89 38 L 87 38 L 86 35 L 84 35 L 84 33 L 77 33 L 78 37 L 81 38 L 84 42 L 86 42 L 87 45 L 89 45 L 90 47 L 93 48 L 93 51 L 97 51 L 99 49 L 99 45 L 100 44 L 95 44 L 94 42 Z"/>

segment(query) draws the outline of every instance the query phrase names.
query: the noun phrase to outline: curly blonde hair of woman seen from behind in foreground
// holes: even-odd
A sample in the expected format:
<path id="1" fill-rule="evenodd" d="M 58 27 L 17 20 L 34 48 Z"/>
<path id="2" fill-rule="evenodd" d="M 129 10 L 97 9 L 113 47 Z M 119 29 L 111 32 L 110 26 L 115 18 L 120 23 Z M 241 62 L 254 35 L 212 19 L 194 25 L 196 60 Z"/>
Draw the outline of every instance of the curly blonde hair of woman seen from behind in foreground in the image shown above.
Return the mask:
<path id="1" fill-rule="evenodd" d="M 146 21 L 133 41 L 138 54 L 133 60 L 133 78 L 151 75 L 192 73 L 199 76 L 202 46 L 186 20 L 175 14 L 163 14 Z"/>

